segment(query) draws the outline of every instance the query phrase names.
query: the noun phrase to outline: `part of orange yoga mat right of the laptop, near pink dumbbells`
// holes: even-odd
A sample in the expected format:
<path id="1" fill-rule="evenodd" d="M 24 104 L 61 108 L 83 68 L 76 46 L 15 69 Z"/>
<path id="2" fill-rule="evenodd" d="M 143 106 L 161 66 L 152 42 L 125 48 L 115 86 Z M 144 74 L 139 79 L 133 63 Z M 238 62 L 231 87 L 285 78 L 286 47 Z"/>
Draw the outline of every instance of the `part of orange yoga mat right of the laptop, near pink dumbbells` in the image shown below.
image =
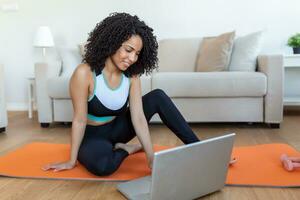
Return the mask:
<path id="1" fill-rule="evenodd" d="M 300 157 L 300 153 L 287 144 L 263 144 L 235 147 L 232 157 L 238 161 L 229 167 L 227 185 L 300 187 L 300 169 L 286 171 L 280 155 Z"/>

